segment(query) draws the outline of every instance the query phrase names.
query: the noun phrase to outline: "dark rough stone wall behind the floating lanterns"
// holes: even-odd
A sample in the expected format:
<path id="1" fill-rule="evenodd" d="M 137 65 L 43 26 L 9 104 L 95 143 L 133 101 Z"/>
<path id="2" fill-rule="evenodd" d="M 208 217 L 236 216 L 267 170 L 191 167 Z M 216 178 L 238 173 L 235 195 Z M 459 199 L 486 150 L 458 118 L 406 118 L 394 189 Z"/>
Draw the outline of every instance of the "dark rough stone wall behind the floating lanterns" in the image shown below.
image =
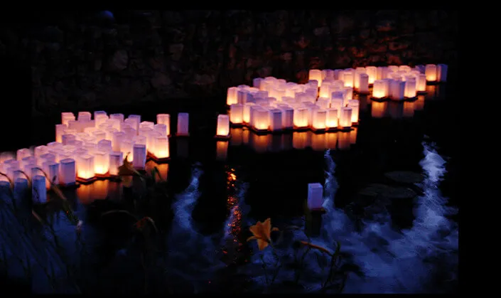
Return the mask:
<path id="1" fill-rule="evenodd" d="M 31 61 L 38 112 L 224 95 L 257 76 L 305 82 L 309 68 L 458 60 L 454 11 L 53 14 L 0 29 L 0 55 Z"/>

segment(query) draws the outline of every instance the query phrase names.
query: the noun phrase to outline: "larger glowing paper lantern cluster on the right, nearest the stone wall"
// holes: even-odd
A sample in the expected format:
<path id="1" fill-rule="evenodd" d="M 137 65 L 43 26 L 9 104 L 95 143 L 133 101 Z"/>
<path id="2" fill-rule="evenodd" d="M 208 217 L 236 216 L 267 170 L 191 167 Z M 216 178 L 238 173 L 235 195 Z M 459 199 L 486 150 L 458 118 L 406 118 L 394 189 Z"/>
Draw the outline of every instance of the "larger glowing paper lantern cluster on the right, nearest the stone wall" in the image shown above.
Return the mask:
<path id="1" fill-rule="evenodd" d="M 274 77 L 255 78 L 252 87 L 228 88 L 226 103 L 230 113 L 229 117 L 218 118 L 217 136 L 229 136 L 230 122 L 257 132 L 350 129 L 358 123 L 360 112 L 354 92 L 371 95 L 375 100 L 414 100 L 419 92 L 426 92 L 427 83 L 444 82 L 446 78 L 444 64 L 312 69 L 306 84 Z"/>

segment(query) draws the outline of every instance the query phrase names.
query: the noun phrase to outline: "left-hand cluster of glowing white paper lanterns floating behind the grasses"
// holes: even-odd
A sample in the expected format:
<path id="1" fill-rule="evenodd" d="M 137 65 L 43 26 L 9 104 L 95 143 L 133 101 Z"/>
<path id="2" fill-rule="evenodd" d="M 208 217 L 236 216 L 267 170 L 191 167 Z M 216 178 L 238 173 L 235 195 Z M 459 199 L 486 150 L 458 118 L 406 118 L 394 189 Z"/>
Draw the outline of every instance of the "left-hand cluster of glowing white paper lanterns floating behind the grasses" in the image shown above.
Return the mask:
<path id="1" fill-rule="evenodd" d="M 92 117 L 93 116 L 93 117 Z M 177 136 L 188 136 L 188 113 L 178 114 Z M 117 176 L 124 156 L 136 169 L 144 169 L 146 159 L 166 161 L 170 157 L 171 117 L 156 115 L 156 123 L 140 115 L 110 114 L 104 111 L 61 113 L 55 124 L 55 142 L 0 154 L 0 183 L 26 183 L 33 188 L 50 187 L 42 171 L 60 185 Z M 26 175 L 26 176 L 25 176 Z M 25 182 L 26 181 L 26 182 Z M 45 193 L 45 191 L 39 191 Z M 41 199 L 43 201 L 43 198 Z"/>

